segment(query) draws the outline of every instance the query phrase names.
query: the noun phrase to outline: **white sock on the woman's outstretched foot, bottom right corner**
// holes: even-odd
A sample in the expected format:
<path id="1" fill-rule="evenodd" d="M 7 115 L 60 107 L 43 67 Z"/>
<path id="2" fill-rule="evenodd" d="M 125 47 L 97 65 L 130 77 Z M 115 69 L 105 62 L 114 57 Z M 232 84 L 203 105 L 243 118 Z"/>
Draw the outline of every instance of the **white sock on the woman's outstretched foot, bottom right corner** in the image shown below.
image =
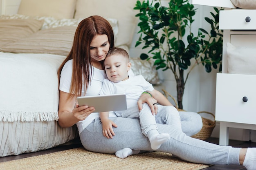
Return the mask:
<path id="1" fill-rule="evenodd" d="M 243 166 L 247 170 L 256 170 L 256 148 L 247 148 Z"/>

